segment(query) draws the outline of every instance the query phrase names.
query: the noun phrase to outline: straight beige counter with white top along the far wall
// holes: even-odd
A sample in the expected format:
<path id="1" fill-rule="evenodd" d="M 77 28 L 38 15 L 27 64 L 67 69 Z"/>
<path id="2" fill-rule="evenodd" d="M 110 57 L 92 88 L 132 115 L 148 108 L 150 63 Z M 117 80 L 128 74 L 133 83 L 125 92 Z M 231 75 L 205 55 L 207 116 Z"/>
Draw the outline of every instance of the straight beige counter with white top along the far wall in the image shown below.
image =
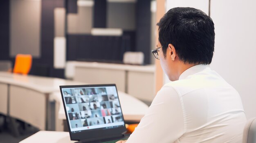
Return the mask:
<path id="1" fill-rule="evenodd" d="M 115 83 L 119 91 L 148 102 L 155 97 L 155 65 L 68 61 L 65 75 L 91 84 Z"/>

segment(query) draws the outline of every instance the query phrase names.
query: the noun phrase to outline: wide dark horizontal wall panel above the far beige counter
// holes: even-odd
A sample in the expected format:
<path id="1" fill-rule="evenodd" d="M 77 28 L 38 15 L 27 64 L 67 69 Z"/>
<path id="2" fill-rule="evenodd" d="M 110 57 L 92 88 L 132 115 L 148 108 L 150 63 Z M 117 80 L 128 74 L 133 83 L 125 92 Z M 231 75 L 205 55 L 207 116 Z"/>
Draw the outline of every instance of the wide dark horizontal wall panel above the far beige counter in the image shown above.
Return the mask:
<path id="1" fill-rule="evenodd" d="M 134 51 L 135 32 L 123 36 L 67 35 L 67 60 L 121 63 L 126 51 Z"/>

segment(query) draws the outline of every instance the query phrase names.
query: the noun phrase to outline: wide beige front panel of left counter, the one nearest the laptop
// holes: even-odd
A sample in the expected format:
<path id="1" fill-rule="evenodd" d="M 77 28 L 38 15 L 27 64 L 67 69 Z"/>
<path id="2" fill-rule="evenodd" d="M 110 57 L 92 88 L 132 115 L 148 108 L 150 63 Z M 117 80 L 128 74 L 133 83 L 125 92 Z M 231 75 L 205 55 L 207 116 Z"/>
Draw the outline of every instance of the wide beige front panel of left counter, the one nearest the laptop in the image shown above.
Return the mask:
<path id="1" fill-rule="evenodd" d="M 46 128 L 47 100 L 45 94 L 10 85 L 9 90 L 9 110 L 10 116 L 39 128 Z"/>

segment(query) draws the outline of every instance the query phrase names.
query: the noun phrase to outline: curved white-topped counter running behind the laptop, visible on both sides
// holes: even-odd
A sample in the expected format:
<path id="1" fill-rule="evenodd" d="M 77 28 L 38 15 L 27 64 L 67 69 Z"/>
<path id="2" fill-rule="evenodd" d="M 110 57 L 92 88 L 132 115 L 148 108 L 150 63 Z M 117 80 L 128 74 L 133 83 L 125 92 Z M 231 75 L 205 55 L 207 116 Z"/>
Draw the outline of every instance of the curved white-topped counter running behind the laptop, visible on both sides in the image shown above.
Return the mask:
<path id="1" fill-rule="evenodd" d="M 61 124 L 65 113 L 59 86 L 85 84 L 59 78 L 0 72 L 0 112 L 40 130 L 62 131 Z M 124 119 L 139 121 L 148 106 L 124 92 L 118 93 Z"/>

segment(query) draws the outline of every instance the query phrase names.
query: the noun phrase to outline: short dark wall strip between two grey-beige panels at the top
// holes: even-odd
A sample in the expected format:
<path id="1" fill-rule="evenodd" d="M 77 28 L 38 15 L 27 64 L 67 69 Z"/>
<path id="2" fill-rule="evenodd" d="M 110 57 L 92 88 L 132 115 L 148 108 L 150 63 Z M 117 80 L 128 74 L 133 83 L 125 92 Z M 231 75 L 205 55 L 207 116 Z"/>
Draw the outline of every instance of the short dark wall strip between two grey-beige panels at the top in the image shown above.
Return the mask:
<path id="1" fill-rule="evenodd" d="M 94 0 L 94 28 L 106 28 L 107 0 Z"/>

